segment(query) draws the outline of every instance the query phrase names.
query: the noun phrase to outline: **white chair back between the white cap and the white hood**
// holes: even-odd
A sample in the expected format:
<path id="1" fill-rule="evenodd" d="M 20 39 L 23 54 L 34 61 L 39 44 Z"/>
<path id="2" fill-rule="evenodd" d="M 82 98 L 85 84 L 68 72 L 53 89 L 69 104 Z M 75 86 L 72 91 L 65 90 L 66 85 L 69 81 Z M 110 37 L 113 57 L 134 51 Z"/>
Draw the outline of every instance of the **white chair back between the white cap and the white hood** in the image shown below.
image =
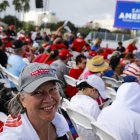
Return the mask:
<path id="1" fill-rule="evenodd" d="M 105 82 L 106 84 L 109 84 L 109 85 L 111 85 L 112 87 L 118 88 L 118 87 L 122 84 L 122 81 L 117 81 L 117 80 L 114 79 L 114 78 L 110 78 L 110 77 L 103 76 L 102 79 L 104 80 L 104 82 Z"/>

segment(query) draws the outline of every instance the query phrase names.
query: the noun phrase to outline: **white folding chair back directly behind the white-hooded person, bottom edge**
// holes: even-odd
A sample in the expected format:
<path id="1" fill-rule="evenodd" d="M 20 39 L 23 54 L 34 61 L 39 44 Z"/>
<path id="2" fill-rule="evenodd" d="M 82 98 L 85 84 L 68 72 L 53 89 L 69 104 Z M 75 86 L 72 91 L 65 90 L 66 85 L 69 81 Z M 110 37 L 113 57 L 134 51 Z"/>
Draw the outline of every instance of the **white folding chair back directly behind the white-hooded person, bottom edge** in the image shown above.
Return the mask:
<path id="1" fill-rule="evenodd" d="M 92 121 L 91 126 L 95 129 L 96 134 L 100 137 L 100 140 L 117 140 L 114 134 L 111 134 L 108 130 L 103 128 L 98 122 Z"/>

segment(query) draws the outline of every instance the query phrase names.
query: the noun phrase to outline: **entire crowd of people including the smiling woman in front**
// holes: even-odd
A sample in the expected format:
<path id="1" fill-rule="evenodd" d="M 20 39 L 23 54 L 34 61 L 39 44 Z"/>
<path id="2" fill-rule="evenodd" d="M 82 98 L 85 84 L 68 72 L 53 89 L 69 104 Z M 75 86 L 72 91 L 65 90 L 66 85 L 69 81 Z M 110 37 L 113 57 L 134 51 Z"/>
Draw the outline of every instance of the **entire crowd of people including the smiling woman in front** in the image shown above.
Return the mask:
<path id="1" fill-rule="evenodd" d="M 7 121 L 0 127 L 0 140 L 73 140 L 58 111 L 63 97 L 118 140 L 140 140 L 140 52 L 136 40 L 128 46 L 118 41 L 111 49 L 102 46 L 101 38 L 92 44 L 82 33 L 64 30 L 64 25 L 53 34 L 41 32 L 39 27 L 29 34 L 23 30 L 16 33 L 10 25 L 0 31 L 0 64 L 18 77 L 18 86 L 9 81 L 14 96 L 7 108 Z M 76 87 L 67 84 L 64 75 L 75 78 Z M 103 76 L 122 81 L 115 88 L 116 100 L 105 108 L 105 89 L 111 85 L 104 83 Z M 99 139 L 84 132 L 85 140 Z"/>

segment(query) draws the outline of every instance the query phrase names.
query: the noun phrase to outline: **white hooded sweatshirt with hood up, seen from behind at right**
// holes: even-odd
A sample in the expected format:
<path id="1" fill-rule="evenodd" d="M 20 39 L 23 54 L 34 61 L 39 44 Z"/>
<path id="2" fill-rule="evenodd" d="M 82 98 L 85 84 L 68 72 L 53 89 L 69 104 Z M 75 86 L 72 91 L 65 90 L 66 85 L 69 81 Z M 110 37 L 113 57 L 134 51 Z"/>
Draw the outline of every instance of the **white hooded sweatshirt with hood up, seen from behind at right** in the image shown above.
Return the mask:
<path id="1" fill-rule="evenodd" d="M 117 140 L 140 140 L 140 85 L 121 85 L 116 100 L 102 110 L 97 121 Z"/>

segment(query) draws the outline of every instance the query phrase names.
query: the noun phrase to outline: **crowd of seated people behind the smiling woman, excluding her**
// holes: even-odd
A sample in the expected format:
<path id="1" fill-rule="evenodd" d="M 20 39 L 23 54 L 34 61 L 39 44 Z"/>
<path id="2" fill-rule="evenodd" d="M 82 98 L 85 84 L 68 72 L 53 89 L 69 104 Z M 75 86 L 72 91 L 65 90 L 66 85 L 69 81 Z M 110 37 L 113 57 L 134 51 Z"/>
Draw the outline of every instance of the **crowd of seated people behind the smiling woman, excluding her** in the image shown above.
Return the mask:
<path id="1" fill-rule="evenodd" d="M 53 34 L 41 32 L 39 27 L 28 34 L 24 30 L 15 32 L 14 25 L 10 25 L 5 31 L 1 29 L 0 64 L 17 77 L 30 63 L 50 65 L 56 70 L 58 79 L 63 81 L 63 95 L 70 100 L 71 106 L 93 116 L 108 130 L 117 136 L 121 135 L 123 140 L 134 137 L 137 138 L 133 140 L 139 140 L 139 125 L 136 126 L 134 137 L 133 134 L 127 138 L 124 137 L 128 134 L 127 129 L 130 128 L 133 131 L 132 126 L 129 127 L 128 121 L 132 119 L 132 123 L 137 124 L 139 123 L 137 120 L 140 120 L 138 103 L 140 100 L 140 52 L 138 51 L 139 46 L 136 46 L 136 40 L 131 41 L 128 46 L 123 46 L 123 42 L 118 41 L 118 46 L 111 49 L 102 46 L 101 38 L 97 38 L 92 43 L 92 41 L 85 40 L 83 34 L 66 32 L 63 28 L 64 25 Z M 80 82 L 76 87 L 68 85 L 64 75 L 69 75 Z M 103 76 L 126 84 L 122 85 L 119 90 L 115 89 L 118 97 L 109 108 L 105 109 L 106 111 L 104 109 L 102 111 L 102 106 L 107 100 L 104 92 L 105 86 L 110 85 L 104 84 Z M 10 85 L 10 88 L 16 92 L 15 84 L 10 81 Z M 125 95 L 121 95 L 123 92 Z M 137 95 L 135 96 L 135 94 Z M 130 98 L 132 104 L 129 104 Z M 118 105 L 119 103 L 121 107 Z M 118 120 L 116 123 L 114 122 L 117 115 L 123 114 L 123 112 L 130 118 L 128 120 L 127 117 L 118 117 L 120 122 L 126 126 L 126 130 L 123 131 L 125 133 L 122 134 L 121 131 L 119 134 L 117 127 L 122 129 L 118 126 L 120 122 Z M 133 112 L 135 113 L 133 114 Z M 113 116 L 108 119 L 109 114 L 113 114 Z"/>

